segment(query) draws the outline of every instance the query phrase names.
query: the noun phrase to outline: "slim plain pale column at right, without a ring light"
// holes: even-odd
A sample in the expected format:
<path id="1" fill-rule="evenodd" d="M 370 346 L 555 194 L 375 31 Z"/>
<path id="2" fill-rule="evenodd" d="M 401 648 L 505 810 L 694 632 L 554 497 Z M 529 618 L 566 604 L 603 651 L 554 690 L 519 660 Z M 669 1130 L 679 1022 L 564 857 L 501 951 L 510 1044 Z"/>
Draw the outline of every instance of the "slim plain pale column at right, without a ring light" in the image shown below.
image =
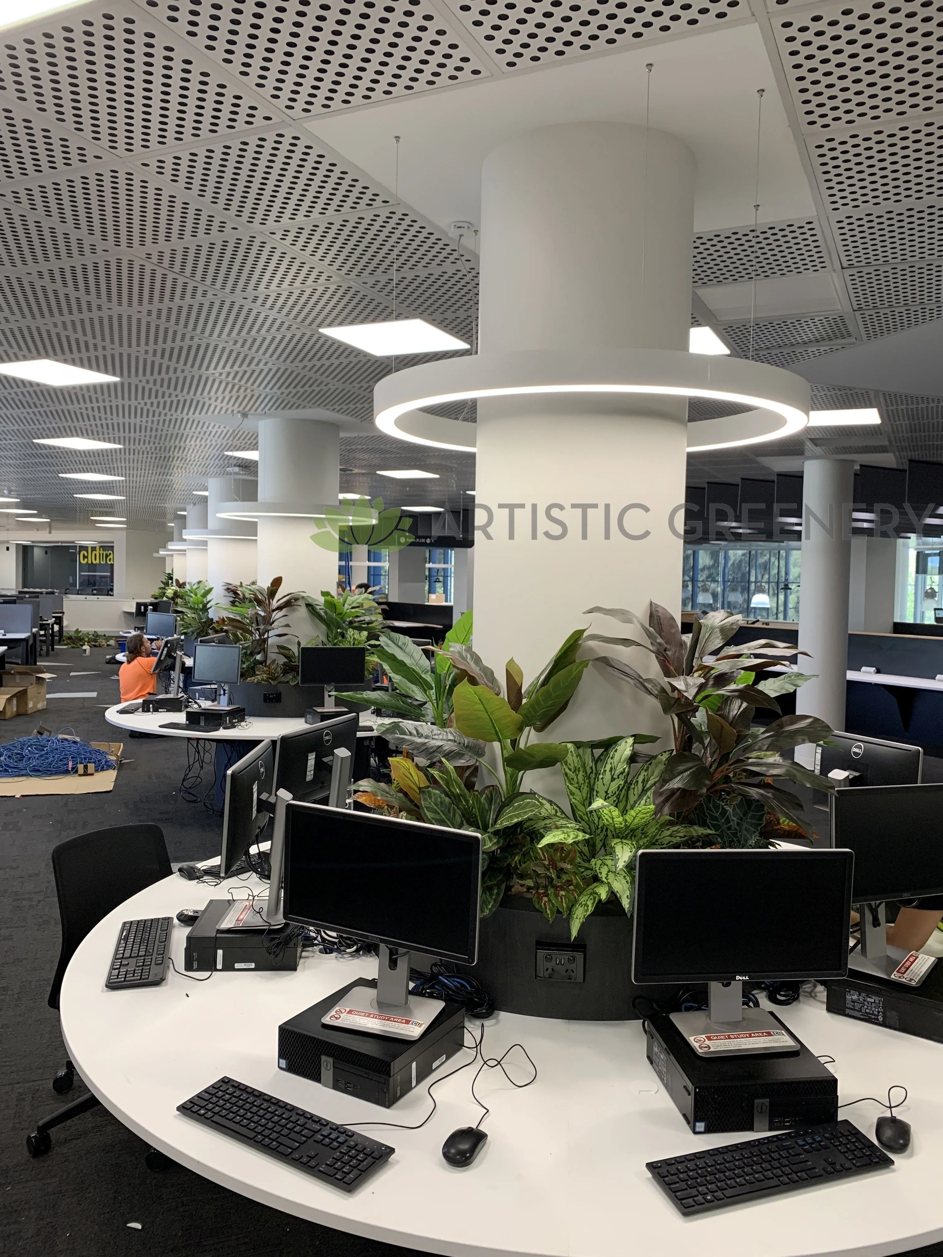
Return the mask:
<path id="1" fill-rule="evenodd" d="M 854 478 L 849 459 L 805 464 L 798 649 L 811 657 L 800 656 L 798 664 L 816 679 L 796 690 L 796 710 L 832 729 L 845 728 Z"/>

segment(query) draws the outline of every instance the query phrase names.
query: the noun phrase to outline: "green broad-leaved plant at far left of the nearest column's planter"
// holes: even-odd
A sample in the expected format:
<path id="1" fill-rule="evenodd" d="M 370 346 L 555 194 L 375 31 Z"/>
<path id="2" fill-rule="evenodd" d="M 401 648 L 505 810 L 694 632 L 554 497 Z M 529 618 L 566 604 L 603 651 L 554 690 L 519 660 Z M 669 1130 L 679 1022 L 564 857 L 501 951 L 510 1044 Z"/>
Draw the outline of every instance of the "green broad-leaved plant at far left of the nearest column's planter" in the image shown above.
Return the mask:
<path id="1" fill-rule="evenodd" d="M 474 667 L 466 656 L 474 656 L 470 650 L 472 612 L 460 616 L 445 635 L 443 649 L 430 659 L 410 637 L 402 634 L 385 632 L 376 646 L 370 650 L 371 657 L 390 678 L 392 689 L 373 690 L 371 704 L 378 711 L 395 711 L 409 722 L 417 722 L 429 738 L 434 730 L 444 728 L 451 719 L 453 691 L 464 675 L 465 667 Z M 477 659 L 477 656 L 474 656 Z M 362 694 L 336 694 L 337 699 L 363 701 Z M 382 737 L 394 737 L 404 722 L 377 725 Z M 417 733 L 410 724 L 407 733 Z M 420 757 L 421 758 L 421 757 Z M 439 758 L 438 755 L 435 758 Z"/>

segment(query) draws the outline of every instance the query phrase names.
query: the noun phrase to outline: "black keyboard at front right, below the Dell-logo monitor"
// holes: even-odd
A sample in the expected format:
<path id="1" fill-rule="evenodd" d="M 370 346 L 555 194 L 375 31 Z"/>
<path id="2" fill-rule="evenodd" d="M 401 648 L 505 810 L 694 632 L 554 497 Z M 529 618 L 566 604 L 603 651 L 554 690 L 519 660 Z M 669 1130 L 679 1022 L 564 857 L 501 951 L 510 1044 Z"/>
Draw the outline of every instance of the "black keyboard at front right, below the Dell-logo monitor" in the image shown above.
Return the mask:
<path id="1" fill-rule="evenodd" d="M 813 1183 L 836 1183 L 893 1164 L 852 1123 L 830 1121 L 649 1161 L 645 1169 L 679 1213 L 693 1214 L 798 1192 Z"/>

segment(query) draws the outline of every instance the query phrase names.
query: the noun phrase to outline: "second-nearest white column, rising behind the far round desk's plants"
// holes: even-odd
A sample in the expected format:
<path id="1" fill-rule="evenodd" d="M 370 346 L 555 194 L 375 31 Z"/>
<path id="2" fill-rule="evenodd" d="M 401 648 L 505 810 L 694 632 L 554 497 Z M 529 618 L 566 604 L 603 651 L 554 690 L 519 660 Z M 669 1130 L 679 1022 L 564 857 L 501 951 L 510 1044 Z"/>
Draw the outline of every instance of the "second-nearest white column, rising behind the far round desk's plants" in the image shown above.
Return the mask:
<path id="1" fill-rule="evenodd" d="M 283 577 L 282 592 L 319 597 L 337 588 L 337 551 L 312 542 L 313 517 L 338 504 L 339 431 L 336 424 L 311 419 L 259 420 L 258 579 Z M 272 513 L 265 513 L 265 505 Z M 306 514 L 307 512 L 307 514 Z M 303 642 L 317 626 L 303 608 L 290 616 L 292 632 Z"/>

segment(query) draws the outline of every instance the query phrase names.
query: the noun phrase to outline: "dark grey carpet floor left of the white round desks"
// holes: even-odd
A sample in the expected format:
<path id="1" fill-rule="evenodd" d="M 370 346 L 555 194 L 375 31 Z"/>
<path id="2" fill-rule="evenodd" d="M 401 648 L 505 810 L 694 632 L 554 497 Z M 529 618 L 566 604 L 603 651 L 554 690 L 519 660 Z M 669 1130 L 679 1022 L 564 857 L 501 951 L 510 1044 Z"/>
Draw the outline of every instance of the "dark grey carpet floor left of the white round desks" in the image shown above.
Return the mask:
<path id="1" fill-rule="evenodd" d="M 219 851 L 220 820 L 179 794 L 186 748 L 179 739 L 128 739 L 106 724 L 118 700 L 106 650 L 87 659 L 57 650 L 49 667 L 57 698 L 39 720 L 85 740 L 124 740 L 114 791 L 78 798 L 0 798 L 0 1252 L 29 1257 L 404 1257 L 411 1249 L 302 1222 L 174 1166 L 151 1173 L 146 1146 L 106 1109 L 53 1131 L 53 1151 L 31 1160 L 25 1135 L 65 1101 L 50 1086 L 64 1061 L 57 1014 L 47 1006 L 59 954 L 59 916 L 49 855 L 65 838 L 107 825 L 156 822 L 174 861 Z M 49 662 L 44 660 L 43 662 Z M 70 676 L 75 672 L 93 675 Z M 31 733 L 35 720 L 0 725 L 0 742 Z M 928 764 L 943 779 L 943 763 Z M 68 1099 L 78 1099 L 77 1084 Z M 836 1207 L 840 1207 L 836 1202 Z M 416 1202 L 421 1208 L 421 1202 Z M 140 1223 L 141 1229 L 128 1223 Z M 631 1219 L 626 1222 L 631 1233 Z M 469 1218 L 480 1236 L 487 1219 Z M 759 1241 L 758 1241 L 759 1242 Z M 918 1254 L 910 1254 L 918 1257 Z M 943 1244 L 919 1249 L 943 1257 Z"/>

